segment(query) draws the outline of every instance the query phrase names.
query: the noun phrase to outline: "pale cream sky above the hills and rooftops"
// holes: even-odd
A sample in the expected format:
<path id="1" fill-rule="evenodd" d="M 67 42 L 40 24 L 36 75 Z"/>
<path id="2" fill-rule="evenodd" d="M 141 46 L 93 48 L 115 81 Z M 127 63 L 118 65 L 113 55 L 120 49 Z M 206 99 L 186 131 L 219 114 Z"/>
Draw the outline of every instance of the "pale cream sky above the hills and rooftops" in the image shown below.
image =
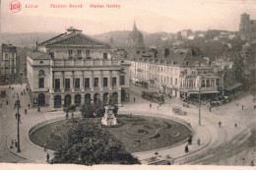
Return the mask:
<path id="1" fill-rule="evenodd" d="M 2 32 L 64 32 L 82 29 L 87 34 L 137 28 L 149 33 L 181 29 L 238 30 L 240 15 L 256 20 L 256 0 L 18 0 L 22 10 L 9 9 L 13 0 L 1 2 Z M 50 4 L 82 4 L 82 9 L 54 9 Z M 101 4 L 104 8 L 90 8 Z M 106 5 L 120 5 L 120 9 Z M 37 5 L 38 8 L 26 8 Z"/>

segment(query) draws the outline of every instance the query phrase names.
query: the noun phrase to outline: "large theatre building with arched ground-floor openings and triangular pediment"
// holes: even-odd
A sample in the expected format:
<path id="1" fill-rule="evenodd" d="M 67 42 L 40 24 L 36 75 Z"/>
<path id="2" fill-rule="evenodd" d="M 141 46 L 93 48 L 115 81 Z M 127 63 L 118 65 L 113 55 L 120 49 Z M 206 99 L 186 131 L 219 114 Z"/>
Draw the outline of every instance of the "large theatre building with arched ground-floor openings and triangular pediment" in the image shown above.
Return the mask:
<path id="1" fill-rule="evenodd" d="M 110 46 L 76 28 L 68 28 L 28 54 L 28 80 L 33 106 L 117 104 L 129 101 L 129 64 L 116 59 Z"/>

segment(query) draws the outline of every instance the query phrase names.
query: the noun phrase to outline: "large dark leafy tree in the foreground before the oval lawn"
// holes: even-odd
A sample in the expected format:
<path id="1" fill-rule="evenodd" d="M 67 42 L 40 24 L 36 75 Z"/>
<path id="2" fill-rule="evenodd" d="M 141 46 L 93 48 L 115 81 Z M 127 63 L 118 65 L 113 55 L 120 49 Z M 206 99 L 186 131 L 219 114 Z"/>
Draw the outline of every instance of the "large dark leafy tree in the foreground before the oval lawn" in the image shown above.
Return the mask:
<path id="1" fill-rule="evenodd" d="M 52 163 L 140 164 L 121 142 L 92 121 L 68 127 L 62 139 Z"/>

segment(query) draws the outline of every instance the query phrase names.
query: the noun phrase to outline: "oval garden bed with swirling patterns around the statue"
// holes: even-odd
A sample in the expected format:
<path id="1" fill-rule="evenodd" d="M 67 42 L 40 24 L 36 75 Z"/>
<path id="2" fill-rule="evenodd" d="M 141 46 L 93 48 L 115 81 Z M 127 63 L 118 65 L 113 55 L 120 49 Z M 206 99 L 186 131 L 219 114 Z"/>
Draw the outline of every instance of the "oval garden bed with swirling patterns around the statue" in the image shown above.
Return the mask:
<path id="1" fill-rule="evenodd" d="M 119 115 L 118 126 L 107 128 L 107 132 L 122 142 L 128 152 L 142 152 L 162 147 L 170 147 L 180 142 L 186 142 L 191 136 L 191 129 L 174 120 L 151 116 Z M 34 129 L 30 140 L 41 147 L 46 143 L 47 148 L 56 150 L 69 127 L 75 124 L 94 122 L 100 125 L 100 118 L 61 120 L 42 125 Z M 84 137 L 87 138 L 87 137 Z"/>

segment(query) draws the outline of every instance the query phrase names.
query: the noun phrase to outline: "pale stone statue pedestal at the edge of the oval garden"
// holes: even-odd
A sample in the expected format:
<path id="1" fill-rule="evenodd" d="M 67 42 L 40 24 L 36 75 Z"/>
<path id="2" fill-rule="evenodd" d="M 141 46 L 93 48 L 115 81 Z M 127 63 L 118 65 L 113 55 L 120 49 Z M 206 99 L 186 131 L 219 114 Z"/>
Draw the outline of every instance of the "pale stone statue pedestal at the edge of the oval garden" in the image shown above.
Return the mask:
<path id="1" fill-rule="evenodd" d="M 112 107 L 110 105 L 105 106 L 105 113 L 101 119 L 102 125 L 107 126 L 107 127 L 117 125 L 117 120 L 114 117 L 113 109 L 114 109 L 114 107 Z"/>

